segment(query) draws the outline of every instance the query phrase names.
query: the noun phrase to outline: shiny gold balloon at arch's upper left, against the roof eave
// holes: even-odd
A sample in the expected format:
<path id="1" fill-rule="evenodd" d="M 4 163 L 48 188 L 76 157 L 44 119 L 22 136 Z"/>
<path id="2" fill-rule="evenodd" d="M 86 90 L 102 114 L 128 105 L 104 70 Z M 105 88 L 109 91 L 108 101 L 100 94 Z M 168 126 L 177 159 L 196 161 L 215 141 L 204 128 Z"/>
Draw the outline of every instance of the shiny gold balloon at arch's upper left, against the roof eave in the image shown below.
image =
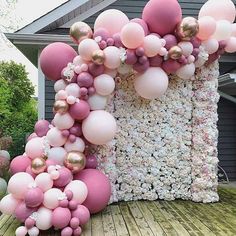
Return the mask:
<path id="1" fill-rule="evenodd" d="M 70 37 L 77 44 L 84 39 L 91 38 L 92 35 L 92 29 L 84 22 L 76 22 L 70 27 Z"/>

